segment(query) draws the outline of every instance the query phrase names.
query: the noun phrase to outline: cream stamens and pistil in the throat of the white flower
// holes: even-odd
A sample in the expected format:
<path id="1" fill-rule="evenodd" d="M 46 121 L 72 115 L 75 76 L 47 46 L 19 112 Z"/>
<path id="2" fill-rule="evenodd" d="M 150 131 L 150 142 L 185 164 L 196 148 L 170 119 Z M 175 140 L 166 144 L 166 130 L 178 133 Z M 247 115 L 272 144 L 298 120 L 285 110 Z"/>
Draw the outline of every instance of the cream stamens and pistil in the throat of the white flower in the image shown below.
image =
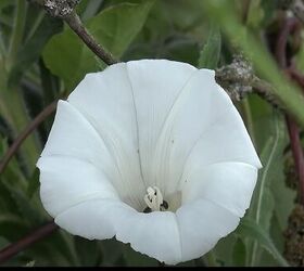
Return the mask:
<path id="1" fill-rule="evenodd" d="M 162 192 L 157 186 L 149 186 L 147 189 L 147 194 L 144 195 L 143 199 L 144 203 L 148 205 L 143 212 L 168 209 L 168 203 L 164 201 Z"/>

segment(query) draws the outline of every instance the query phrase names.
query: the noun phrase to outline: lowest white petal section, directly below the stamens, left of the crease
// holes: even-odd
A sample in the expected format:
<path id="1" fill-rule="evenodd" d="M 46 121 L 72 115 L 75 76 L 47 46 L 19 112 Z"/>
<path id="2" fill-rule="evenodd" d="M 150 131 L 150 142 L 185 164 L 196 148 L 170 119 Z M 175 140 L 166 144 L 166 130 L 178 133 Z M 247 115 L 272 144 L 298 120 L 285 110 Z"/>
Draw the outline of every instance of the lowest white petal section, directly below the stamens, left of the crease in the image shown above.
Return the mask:
<path id="1" fill-rule="evenodd" d="M 138 212 L 116 223 L 116 238 L 168 264 L 181 259 L 179 230 L 176 216 L 169 211 Z"/>

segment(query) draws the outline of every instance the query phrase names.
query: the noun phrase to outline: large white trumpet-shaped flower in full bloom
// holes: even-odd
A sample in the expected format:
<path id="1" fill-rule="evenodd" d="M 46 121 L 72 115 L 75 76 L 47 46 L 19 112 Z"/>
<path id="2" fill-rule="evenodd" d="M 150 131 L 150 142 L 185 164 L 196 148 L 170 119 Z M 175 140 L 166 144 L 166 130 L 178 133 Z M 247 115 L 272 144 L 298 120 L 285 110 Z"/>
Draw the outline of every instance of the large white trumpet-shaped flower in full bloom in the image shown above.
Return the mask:
<path id="1" fill-rule="evenodd" d="M 175 264 L 237 228 L 261 163 L 213 70 L 142 60 L 87 75 L 59 102 L 38 167 L 60 227 Z"/>

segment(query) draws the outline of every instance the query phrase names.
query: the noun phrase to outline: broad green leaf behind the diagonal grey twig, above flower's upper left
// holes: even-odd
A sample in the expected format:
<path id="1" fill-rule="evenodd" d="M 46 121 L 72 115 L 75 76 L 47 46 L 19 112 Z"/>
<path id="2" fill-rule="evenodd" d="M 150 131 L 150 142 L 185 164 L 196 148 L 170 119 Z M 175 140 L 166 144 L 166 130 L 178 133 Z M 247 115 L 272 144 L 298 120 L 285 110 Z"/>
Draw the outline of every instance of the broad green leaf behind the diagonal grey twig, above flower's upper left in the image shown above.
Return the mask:
<path id="1" fill-rule="evenodd" d="M 119 4 L 100 12 L 85 25 L 105 50 L 121 57 L 141 30 L 154 1 L 140 4 Z M 64 59 L 62 57 L 64 55 Z M 43 51 L 46 66 L 61 77 L 68 90 L 87 73 L 103 69 L 105 65 L 71 29 L 55 35 Z"/>

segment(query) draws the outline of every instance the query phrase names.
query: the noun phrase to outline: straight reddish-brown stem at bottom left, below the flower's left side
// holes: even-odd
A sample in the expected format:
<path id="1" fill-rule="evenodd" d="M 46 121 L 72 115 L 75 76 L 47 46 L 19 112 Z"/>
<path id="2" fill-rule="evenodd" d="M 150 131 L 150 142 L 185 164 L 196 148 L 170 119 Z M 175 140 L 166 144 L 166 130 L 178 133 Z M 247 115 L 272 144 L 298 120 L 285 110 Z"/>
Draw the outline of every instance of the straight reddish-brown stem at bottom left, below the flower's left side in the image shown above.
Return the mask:
<path id="1" fill-rule="evenodd" d="M 53 233 L 55 230 L 58 230 L 59 227 L 54 223 L 54 221 L 51 221 L 38 230 L 31 232 L 24 238 L 21 238 L 16 243 L 9 245 L 4 249 L 0 250 L 0 263 L 3 263 L 5 260 L 12 258 L 20 251 L 24 250 L 31 244 L 38 242 L 39 240 L 49 236 L 51 233 Z"/>

